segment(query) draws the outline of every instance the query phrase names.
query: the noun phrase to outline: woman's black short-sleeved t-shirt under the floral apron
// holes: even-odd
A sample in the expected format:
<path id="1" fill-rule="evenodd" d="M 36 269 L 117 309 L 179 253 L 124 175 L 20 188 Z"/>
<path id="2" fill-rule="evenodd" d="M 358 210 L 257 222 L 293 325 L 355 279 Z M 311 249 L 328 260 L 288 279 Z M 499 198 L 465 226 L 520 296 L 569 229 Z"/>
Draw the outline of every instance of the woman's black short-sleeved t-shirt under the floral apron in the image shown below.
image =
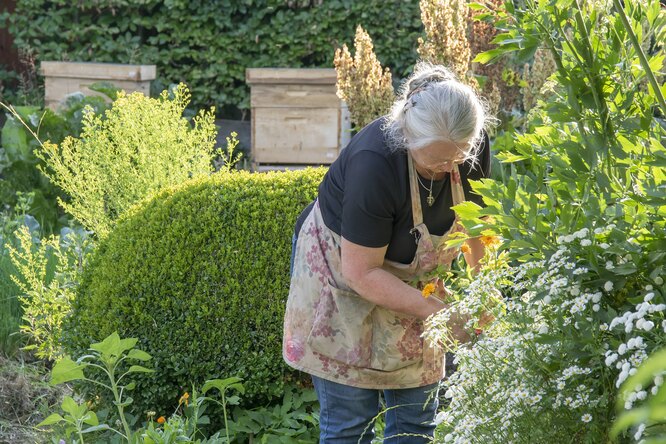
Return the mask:
<path id="1" fill-rule="evenodd" d="M 414 222 L 407 153 L 389 149 L 381 129 L 383 123 L 384 119 L 370 123 L 342 150 L 319 186 L 319 206 L 324 223 L 335 233 L 366 247 L 388 245 L 386 258 L 407 264 L 416 253 L 415 237 L 410 233 Z M 490 160 L 490 144 L 485 136 L 476 164 L 459 166 L 465 199 L 483 205 L 481 197 L 472 193 L 468 179 L 489 177 Z M 430 186 L 430 178 L 421 180 Z M 449 175 L 433 181 L 432 207 L 425 201 L 428 191 L 422 186 L 419 189 L 423 221 L 431 234 L 444 234 L 455 219 Z M 308 212 L 309 208 L 304 211 Z"/>

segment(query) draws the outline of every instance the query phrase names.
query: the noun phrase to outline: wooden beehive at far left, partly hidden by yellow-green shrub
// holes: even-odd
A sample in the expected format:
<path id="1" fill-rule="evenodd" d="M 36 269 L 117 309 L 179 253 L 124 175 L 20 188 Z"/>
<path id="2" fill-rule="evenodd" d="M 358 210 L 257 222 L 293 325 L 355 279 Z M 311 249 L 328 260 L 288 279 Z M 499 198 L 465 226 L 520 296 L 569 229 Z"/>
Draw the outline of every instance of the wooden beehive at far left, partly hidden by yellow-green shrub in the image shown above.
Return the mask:
<path id="1" fill-rule="evenodd" d="M 65 96 L 74 92 L 101 95 L 88 87 L 96 82 L 109 82 L 131 93 L 150 94 L 150 82 L 155 80 L 155 65 L 122 65 L 115 63 L 42 62 L 44 102 L 53 109 Z"/>

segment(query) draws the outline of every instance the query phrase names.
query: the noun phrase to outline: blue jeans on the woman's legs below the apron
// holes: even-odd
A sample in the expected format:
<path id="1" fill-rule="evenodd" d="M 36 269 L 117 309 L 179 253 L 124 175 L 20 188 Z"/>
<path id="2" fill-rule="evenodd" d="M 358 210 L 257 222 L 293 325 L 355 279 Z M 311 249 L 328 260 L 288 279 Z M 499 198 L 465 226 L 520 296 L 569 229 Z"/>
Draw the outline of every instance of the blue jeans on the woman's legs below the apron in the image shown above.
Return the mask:
<path id="1" fill-rule="evenodd" d="M 374 438 L 373 419 L 386 401 L 384 443 L 431 442 L 439 401 L 438 384 L 408 389 L 371 390 L 312 376 L 321 406 L 320 444 L 366 444 Z M 433 394 L 433 391 L 435 393 Z M 427 404 L 426 404 L 427 401 Z M 401 436 L 402 435 L 402 436 Z"/>

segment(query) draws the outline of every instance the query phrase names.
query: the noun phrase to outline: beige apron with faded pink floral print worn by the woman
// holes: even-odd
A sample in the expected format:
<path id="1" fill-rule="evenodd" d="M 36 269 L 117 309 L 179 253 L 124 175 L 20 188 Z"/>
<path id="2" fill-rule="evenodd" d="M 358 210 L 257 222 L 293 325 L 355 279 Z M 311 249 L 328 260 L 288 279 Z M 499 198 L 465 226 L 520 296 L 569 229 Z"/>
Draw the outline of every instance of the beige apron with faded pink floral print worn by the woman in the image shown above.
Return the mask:
<path id="1" fill-rule="evenodd" d="M 450 266 L 458 248 L 448 236 L 462 231 L 458 217 L 443 236 L 423 223 L 418 174 L 408 157 L 417 248 L 411 264 L 385 260 L 383 268 L 405 282 L 438 265 Z M 465 195 L 457 165 L 450 173 L 453 204 Z M 444 350 L 421 337 L 423 321 L 369 302 L 342 277 L 341 238 L 322 219 L 319 202 L 305 219 L 296 244 L 284 319 L 282 354 L 291 367 L 354 387 L 421 387 L 444 377 Z"/>

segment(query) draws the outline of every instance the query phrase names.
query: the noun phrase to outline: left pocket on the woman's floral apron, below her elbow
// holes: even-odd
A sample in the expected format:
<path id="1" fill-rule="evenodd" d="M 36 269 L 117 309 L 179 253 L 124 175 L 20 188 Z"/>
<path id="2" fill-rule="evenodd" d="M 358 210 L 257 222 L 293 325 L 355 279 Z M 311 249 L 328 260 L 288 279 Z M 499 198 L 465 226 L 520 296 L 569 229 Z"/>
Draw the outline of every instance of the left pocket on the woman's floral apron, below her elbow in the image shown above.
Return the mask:
<path id="1" fill-rule="evenodd" d="M 331 283 L 315 306 L 308 345 L 313 351 L 354 367 L 370 366 L 372 312 L 377 306 Z"/>

